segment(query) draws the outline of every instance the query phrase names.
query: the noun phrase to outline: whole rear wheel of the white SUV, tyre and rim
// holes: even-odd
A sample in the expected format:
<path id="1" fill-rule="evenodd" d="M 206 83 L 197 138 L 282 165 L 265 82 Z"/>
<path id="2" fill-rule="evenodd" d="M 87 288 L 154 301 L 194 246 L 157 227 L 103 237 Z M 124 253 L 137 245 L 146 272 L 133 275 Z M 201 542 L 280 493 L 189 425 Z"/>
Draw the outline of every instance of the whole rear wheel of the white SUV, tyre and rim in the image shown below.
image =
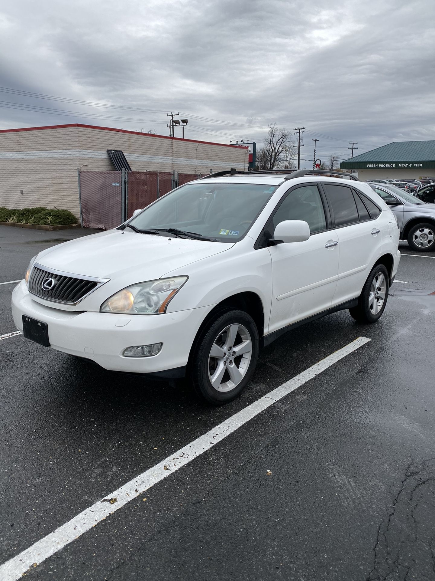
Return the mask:
<path id="1" fill-rule="evenodd" d="M 358 323 L 374 323 L 382 316 L 388 299 L 389 275 L 383 264 L 376 264 L 358 297 L 358 305 L 349 309 Z"/>

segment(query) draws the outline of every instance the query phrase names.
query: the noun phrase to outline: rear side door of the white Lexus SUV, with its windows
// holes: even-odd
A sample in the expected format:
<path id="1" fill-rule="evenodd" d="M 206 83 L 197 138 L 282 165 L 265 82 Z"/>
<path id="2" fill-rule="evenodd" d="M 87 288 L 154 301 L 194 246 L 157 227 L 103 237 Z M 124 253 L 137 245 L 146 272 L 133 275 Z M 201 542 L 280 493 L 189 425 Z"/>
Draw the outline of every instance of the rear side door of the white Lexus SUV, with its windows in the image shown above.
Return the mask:
<path id="1" fill-rule="evenodd" d="M 338 280 L 332 299 L 332 306 L 336 306 L 360 295 L 375 263 L 382 243 L 380 209 L 372 202 L 376 211 L 370 213 L 362 201 L 365 196 L 362 198 L 350 185 L 324 182 L 322 187 L 338 237 Z"/>

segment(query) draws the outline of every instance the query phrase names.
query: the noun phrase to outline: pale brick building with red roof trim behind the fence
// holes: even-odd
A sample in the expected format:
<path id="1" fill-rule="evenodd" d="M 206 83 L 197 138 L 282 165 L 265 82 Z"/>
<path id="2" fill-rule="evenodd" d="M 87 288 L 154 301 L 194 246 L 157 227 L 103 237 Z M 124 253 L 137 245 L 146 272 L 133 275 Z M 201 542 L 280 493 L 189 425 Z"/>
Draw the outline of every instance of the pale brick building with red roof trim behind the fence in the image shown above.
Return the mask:
<path id="1" fill-rule="evenodd" d="M 248 169 L 248 148 L 78 123 L 0 131 L 0 206 L 64 208 L 79 216 L 77 168 L 114 170 L 121 150 L 134 171 L 207 174 Z"/>

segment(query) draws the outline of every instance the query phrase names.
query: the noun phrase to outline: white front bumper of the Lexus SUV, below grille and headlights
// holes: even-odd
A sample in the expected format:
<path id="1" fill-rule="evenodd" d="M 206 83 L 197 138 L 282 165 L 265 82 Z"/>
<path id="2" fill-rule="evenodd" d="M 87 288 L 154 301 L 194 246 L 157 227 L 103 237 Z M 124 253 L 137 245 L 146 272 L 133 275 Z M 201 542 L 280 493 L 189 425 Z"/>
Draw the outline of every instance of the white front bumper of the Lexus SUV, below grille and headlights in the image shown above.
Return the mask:
<path id="1" fill-rule="evenodd" d="M 32 300 L 21 281 L 12 293 L 12 315 L 23 331 L 23 315 L 48 324 L 53 349 L 85 357 L 107 370 L 160 374 L 184 367 L 202 321 L 213 307 L 161 315 L 119 315 L 53 309 Z M 163 343 L 152 357 L 122 357 L 126 347 Z"/>

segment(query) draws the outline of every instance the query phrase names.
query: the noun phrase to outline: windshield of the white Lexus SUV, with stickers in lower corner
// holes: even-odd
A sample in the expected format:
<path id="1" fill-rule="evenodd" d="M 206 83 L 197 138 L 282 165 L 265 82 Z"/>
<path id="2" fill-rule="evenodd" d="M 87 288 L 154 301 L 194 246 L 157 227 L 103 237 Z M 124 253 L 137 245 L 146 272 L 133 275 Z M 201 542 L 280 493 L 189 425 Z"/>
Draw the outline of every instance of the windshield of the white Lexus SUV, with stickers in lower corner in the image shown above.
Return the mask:
<path id="1" fill-rule="evenodd" d="M 186 184 L 148 206 L 129 224 L 139 231 L 175 228 L 179 234 L 189 232 L 199 239 L 236 242 L 276 189 L 264 184 Z"/>

